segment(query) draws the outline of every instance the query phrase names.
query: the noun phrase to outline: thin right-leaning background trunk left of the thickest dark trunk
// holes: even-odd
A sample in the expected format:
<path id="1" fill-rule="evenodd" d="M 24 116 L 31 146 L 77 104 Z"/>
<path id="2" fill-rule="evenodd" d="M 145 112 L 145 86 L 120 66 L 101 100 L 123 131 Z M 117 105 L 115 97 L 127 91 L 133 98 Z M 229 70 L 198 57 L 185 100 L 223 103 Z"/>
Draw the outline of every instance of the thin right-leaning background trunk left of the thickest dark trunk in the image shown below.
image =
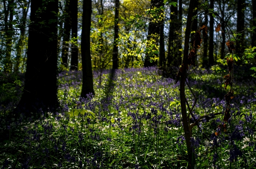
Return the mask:
<path id="1" fill-rule="evenodd" d="M 25 19 L 27 19 L 27 15 L 28 15 L 28 9 L 29 9 L 29 6 L 30 6 L 30 0 L 25 1 L 24 3 L 24 7 L 26 7 L 24 12 L 23 12 L 23 22 L 22 22 L 22 25 L 25 27 L 25 24 L 26 24 L 26 21 Z M 20 66 L 20 59 L 22 57 L 22 50 L 25 46 L 25 43 L 24 43 L 24 39 L 25 39 L 25 29 L 22 29 L 20 30 L 20 39 L 18 41 L 18 44 L 17 44 L 17 47 L 16 47 L 16 50 L 17 50 L 17 55 L 16 55 L 16 62 L 15 62 L 15 66 L 14 66 L 14 71 L 17 72 L 19 70 L 19 66 Z"/>

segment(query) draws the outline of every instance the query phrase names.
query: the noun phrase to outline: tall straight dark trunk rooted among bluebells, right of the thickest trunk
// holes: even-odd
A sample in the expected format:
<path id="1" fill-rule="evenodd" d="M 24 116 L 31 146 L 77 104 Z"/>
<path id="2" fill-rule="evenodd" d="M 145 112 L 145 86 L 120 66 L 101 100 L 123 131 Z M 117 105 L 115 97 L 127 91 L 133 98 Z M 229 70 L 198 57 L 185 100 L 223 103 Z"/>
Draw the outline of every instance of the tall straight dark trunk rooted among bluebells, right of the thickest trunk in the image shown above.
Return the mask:
<path id="1" fill-rule="evenodd" d="M 94 94 L 93 90 L 93 70 L 90 52 L 90 27 L 92 14 L 92 0 L 84 0 L 83 4 L 83 20 L 82 20 L 82 36 L 81 36 L 81 55 L 83 66 L 83 85 L 81 97 L 87 94 Z"/>

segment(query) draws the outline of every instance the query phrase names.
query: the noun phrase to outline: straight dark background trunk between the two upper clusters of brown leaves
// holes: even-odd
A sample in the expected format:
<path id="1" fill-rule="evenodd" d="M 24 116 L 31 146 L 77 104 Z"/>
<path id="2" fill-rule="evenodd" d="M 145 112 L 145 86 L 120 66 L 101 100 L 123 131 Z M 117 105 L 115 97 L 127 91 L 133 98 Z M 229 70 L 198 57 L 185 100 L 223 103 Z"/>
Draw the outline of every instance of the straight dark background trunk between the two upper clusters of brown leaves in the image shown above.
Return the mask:
<path id="1" fill-rule="evenodd" d="M 210 0 L 210 8 L 214 8 L 214 0 Z M 209 66 L 214 64 L 214 17 L 210 15 L 210 31 L 209 31 Z"/>

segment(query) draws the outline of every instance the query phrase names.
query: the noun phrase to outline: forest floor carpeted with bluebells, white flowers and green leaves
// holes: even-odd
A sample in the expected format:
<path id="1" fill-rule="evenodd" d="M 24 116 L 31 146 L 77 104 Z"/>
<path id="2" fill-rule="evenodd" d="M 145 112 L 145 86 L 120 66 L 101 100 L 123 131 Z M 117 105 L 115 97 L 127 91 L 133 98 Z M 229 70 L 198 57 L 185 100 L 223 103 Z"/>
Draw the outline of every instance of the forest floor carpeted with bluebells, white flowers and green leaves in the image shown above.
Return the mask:
<path id="1" fill-rule="evenodd" d="M 188 72 L 198 99 L 193 113 L 196 119 L 208 115 L 202 130 L 193 128 L 197 168 L 256 169 L 256 79 L 247 69 L 236 69 L 228 122 L 223 121 L 224 75 L 199 68 Z M 59 77 L 58 110 L 34 112 L 39 119 L 21 115 L 18 121 L 3 114 L 17 105 L 22 91 L 1 82 L 1 168 L 186 168 L 179 82 L 163 78 L 155 67 L 94 71 L 95 95 L 81 98 L 82 72 Z M 192 105 L 188 87 L 185 92 Z"/>

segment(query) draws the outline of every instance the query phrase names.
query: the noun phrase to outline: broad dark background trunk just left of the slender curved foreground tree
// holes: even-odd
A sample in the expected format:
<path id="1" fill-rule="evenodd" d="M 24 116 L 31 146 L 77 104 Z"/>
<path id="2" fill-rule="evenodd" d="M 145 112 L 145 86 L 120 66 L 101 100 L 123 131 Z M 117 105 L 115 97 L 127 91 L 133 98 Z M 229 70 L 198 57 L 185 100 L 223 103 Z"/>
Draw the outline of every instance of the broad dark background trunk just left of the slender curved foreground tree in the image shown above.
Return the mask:
<path id="1" fill-rule="evenodd" d="M 177 2 L 174 1 L 174 2 Z M 177 33 L 177 21 L 178 21 L 178 8 L 171 6 L 171 14 L 170 14 L 170 25 L 169 25 L 169 40 L 168 40 L 168 55 L 167 55 L 167 65 L 170 67 L 174 59 L 176 59 L 177 53 L 175 53 L 177 44 L 176 42 L 176 33 Z"/>

